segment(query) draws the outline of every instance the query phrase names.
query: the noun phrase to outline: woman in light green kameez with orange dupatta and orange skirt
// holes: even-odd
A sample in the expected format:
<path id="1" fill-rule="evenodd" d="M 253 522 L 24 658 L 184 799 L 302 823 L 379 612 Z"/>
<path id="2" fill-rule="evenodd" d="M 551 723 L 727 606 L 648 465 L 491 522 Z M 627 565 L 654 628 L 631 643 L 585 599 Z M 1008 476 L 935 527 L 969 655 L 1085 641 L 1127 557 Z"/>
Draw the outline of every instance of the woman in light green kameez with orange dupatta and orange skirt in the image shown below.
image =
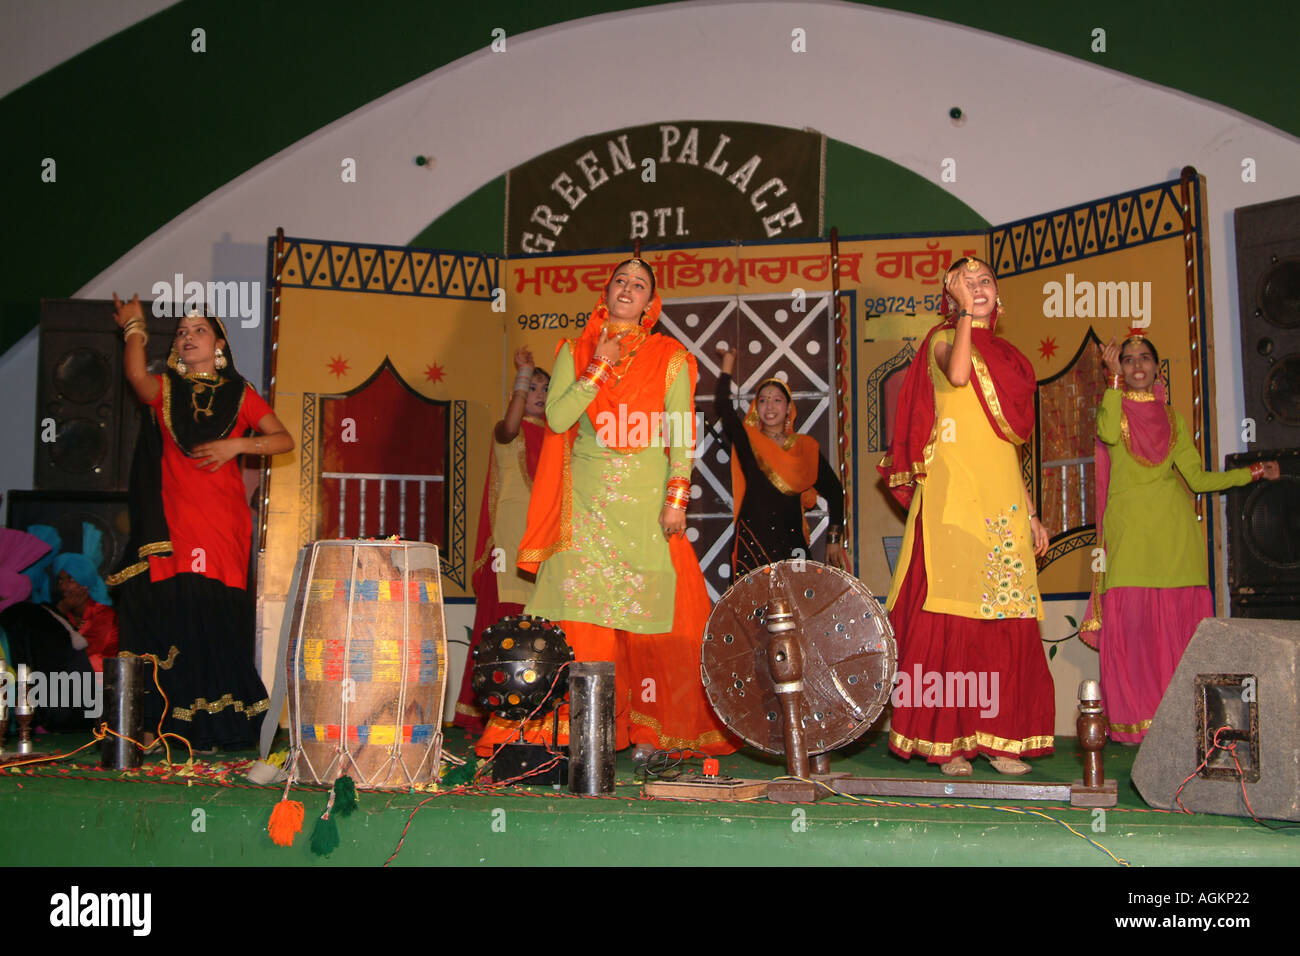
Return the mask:
<path id="1" fill-rule="evenodd" d="M 556 622 L 577 661 L 614 661 L 616 747 L 731 753 L 699 680 L 708 593 L 685 538 L 696 363 L 653 332 L 662 302 L 641 259 L 620 263 L 576 339 L 555 354 L 519 567 L 537 572 L 526 613 Z M 567 708 L 559 743 L 568 740 Z M 519 736 L 493 718 L 489 756 Z M 549 741 L 551 721 L 524 737 Z"/>

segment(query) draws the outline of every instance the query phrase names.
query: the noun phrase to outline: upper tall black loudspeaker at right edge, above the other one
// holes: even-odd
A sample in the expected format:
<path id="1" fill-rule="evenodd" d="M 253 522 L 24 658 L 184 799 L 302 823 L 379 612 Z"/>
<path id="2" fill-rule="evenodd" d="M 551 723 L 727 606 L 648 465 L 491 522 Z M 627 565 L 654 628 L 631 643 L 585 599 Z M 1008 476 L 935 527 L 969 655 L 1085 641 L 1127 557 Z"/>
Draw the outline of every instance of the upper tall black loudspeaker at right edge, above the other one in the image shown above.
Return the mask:
<path id="1" fill-rule="evenodd" d="M 1232 213 L 1245 414 L 1264 447 L 1300 445 L 1300 196 Z"/>

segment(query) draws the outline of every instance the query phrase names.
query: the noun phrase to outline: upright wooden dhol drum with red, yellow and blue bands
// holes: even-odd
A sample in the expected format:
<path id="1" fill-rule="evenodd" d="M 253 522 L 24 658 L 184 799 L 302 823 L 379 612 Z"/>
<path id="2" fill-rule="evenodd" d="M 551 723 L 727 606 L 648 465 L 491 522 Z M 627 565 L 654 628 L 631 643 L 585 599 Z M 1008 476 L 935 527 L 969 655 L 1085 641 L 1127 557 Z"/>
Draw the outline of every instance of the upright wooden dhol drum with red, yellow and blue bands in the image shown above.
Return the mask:
<path id="1" fill-rule="evenodd" d="M 437 546 L 339 540 L 307 550 L 286 652 L 294 780 L 436 782 L 447 691 Z"/>

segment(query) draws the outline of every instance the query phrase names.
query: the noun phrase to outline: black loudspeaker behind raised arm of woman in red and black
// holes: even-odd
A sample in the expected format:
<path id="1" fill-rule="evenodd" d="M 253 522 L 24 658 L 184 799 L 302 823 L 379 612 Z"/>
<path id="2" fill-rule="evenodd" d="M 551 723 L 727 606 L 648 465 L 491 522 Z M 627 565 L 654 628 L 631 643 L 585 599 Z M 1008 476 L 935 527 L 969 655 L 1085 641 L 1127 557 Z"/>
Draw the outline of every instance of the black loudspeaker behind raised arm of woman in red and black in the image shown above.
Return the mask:
<path id="1" fill-rule="evenodd" d="M 150 371 L 172 349 L 174 319 L 144 304 Z M 44 299 L 36 377 L 36 467 L 40 490 L 122 492 L 139 432 L 139 402 L 122 371 L 122 333 L 113 303 Z"/>

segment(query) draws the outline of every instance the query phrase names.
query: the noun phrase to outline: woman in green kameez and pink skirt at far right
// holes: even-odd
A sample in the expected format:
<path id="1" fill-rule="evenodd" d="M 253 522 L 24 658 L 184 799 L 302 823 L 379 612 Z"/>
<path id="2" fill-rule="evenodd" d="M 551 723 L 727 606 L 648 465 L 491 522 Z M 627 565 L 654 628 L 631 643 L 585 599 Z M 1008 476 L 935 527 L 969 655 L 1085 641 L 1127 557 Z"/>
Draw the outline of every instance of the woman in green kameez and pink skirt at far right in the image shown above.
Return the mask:
<path id="1" fill-rule="evenodd" d="M 1110 372 L 1097 410 L 1097 538 L 1105 570 L 1082 636 L 1101 652 L 1112 740 L 1138 744 L 1196 626 L 1214 614 L 1205 536 L 1187 489 L 1201 494 L 1275 479 L 1278 463 L 1204 471 L 1182 416 L 1165 403 L 1156 346 L 1141 334 L 1122 347 L 1112 339 L 1102 360 Z"/>

